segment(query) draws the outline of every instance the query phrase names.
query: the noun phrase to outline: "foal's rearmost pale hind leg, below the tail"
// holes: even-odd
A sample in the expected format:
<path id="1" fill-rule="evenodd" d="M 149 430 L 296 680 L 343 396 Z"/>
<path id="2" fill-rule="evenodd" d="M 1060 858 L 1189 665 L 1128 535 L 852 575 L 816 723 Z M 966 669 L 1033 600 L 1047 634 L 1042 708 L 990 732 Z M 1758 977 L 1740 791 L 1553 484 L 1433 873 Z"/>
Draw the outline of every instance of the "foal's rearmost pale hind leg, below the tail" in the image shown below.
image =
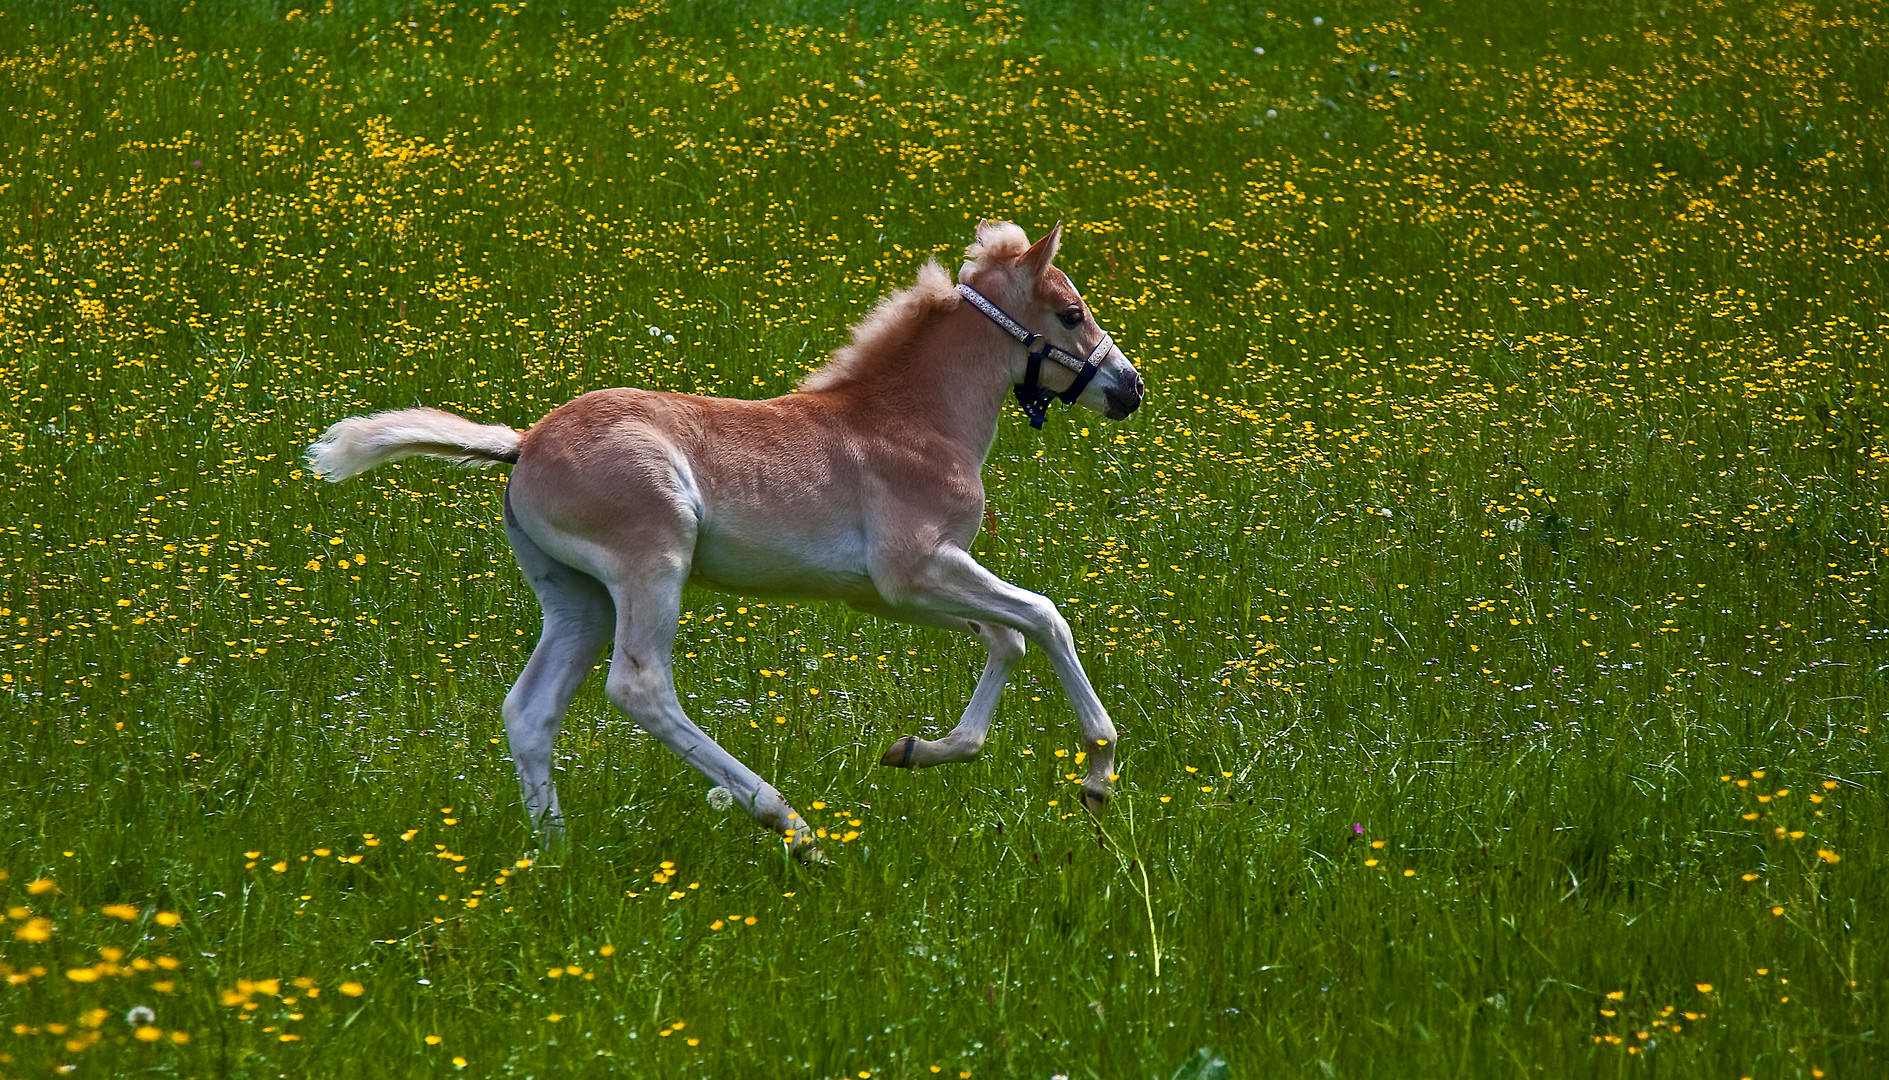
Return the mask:
<path id="1" fill-rule="evenodd" d="M 563 727 L 570 699 L 610 644 L 614 610 L 603 582 L 552 559 L 512 519 L 506 502 L 504 531 L 531 591 L 544 610 L 544 631 L 531 661 L 504 695 L 504 733 L 525 812 L 546 844 L 563 840 L 565 816 L 552 784 L 552 744 Z"/>

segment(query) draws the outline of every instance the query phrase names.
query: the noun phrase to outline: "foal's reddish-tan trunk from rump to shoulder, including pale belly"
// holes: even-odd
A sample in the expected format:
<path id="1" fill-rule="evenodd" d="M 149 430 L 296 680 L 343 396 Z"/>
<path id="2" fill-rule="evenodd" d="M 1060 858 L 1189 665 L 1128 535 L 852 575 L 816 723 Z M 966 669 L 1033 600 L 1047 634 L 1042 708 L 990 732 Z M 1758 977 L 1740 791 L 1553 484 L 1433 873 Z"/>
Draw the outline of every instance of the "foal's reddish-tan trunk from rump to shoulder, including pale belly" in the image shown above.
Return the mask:
<path id="1" fill-rule="evenodd" d="M 682 555 L 720 589 L 867 599 L 880 523 L 927 463 L 922 438 L 861 427 L 844 404 L 593 391 L 525 432 L 514 514 L 559 561 L 606 580 L 635 570 L 625 557 Z"/>

